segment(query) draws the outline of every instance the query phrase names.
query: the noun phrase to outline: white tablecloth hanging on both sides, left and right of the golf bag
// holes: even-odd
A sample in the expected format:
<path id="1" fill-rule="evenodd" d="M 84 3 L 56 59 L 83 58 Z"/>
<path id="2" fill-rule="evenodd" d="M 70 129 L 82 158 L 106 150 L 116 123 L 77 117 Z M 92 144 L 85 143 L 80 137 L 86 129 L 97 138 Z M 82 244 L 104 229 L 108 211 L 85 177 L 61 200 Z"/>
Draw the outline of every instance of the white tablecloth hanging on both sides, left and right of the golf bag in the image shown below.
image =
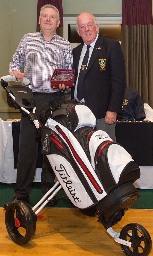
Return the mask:
<path id="1" fill-rule="evenodd" d="M 0 120 L 0 182 L 16 183 L 14 169 L 12 122 Z M 134 183 L 136 188 L 153 189 L 153 166 L 140 166 L 141 177 Z M 36 169 L 35 182 L 40 182 L 41 168 Z"/>

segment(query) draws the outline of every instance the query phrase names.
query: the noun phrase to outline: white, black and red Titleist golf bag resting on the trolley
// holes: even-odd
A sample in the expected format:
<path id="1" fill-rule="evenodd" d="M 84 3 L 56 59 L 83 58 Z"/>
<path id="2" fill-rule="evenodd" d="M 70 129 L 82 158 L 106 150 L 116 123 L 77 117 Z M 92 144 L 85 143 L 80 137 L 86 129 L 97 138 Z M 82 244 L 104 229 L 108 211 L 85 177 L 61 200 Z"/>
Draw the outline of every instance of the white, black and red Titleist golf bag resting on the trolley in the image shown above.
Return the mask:
<path id="1" fill-rule="evenodd" d="M 41 111 L 42 153 L 81 212 L 97 213 L 106 229 L 115 225 L 140 196 L 133 185 L 139 166 L 106 132 L 94 130 L 96 118 L 86 106 L 65 103 L 50 109 Z"/>

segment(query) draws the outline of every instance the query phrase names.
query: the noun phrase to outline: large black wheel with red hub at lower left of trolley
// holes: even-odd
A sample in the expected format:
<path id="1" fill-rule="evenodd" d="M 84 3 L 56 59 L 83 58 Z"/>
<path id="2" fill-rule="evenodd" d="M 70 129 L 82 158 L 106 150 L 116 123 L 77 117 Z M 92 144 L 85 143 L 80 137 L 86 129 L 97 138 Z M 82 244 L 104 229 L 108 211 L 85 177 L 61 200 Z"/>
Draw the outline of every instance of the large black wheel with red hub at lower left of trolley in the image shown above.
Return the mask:
<path id="1" fill-rule="evenodd" d="M 36 231 L 35 213 L 28 203 L 15 201 L 6 208 L 5 225 L 15 243 L 26 244 Z"/>

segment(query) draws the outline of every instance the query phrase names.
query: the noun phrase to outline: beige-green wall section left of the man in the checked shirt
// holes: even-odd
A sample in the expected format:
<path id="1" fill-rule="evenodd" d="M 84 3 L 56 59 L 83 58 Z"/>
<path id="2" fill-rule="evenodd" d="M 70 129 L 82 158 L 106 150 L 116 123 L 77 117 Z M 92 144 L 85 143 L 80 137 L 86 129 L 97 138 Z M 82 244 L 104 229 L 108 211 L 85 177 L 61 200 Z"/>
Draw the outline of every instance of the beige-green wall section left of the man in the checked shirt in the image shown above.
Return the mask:
<path id="1" fill-rule="evenodd" d="M 2 77 L 8 75 L 10 60 L 23 35 L 36 32 L 37 0 L 0 0 L 0 6 L 0 77 Z M 0 118 L 19 119 L 20 116 L 19 110 L 15 111 L 8 107 L 6 92 L 0 87 Z"/>

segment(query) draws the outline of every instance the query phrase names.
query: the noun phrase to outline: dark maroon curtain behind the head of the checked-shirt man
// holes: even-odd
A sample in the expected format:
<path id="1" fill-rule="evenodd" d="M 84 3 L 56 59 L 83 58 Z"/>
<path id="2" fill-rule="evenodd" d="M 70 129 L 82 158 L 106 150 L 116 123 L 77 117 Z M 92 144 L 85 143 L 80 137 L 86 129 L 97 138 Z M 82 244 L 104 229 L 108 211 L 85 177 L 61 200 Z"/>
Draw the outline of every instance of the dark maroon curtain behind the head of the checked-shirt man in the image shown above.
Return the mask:
<path id="1" fill-rule="evenodd" d="M 40 9 L 45 4 L 52 4 L 54 5 L 59 13 L 60 13 L 60 26 L 57 28 L 56 32 L 57 35 L 63 37 L 63 8 L 62 8 L 62 0 L 38 0 L 37 3 L 37 32 L 40 31 L 39 26 L 39 15 L 40 15 Z"/>

